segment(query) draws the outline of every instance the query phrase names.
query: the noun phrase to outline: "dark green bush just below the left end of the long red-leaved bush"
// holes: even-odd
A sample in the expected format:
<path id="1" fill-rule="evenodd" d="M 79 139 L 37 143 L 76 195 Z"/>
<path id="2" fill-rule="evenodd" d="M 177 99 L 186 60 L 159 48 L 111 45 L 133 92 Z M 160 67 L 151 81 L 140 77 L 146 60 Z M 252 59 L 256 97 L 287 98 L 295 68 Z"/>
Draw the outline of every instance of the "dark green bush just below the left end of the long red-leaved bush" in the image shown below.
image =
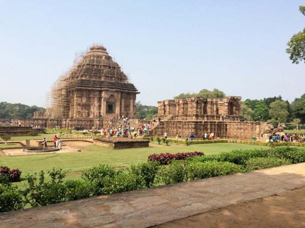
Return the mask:
<path id="1" fill-rule="evenodd" d="M 136 177 L 138 186 L 143 185 L 145 188 L 149 188 L 153 186 L 153 180 L 159 166 L 158 162 L 143 162 L 132 165 L 130 172 Z"/>

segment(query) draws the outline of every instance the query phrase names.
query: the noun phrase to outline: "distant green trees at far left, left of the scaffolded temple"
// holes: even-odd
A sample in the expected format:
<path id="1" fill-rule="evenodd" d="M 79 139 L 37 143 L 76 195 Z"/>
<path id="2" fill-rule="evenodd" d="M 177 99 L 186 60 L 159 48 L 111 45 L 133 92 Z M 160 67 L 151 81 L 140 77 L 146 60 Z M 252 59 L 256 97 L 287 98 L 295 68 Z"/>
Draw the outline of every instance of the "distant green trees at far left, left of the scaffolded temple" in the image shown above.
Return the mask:
<path id="1" fill-rule="evenodd" d="M 44 108 L 0 102 L 0 119 L 30 119 L 35 111 L 44 111 Z"/>

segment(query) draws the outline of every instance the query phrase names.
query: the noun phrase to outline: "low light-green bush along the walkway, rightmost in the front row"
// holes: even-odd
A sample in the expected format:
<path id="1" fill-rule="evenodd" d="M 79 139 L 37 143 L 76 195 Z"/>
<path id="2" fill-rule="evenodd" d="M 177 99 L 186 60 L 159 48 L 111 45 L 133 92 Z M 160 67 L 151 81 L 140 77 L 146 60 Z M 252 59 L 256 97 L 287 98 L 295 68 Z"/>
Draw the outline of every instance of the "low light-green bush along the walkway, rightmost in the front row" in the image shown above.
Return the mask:
<path id="1" fill-rule="evenodd" d="M 291 162 L 280 158 L 250 158 L 246 161 L 245 167 L 247 171 L 253 171 L 289 164 L 291 164 Z"/>

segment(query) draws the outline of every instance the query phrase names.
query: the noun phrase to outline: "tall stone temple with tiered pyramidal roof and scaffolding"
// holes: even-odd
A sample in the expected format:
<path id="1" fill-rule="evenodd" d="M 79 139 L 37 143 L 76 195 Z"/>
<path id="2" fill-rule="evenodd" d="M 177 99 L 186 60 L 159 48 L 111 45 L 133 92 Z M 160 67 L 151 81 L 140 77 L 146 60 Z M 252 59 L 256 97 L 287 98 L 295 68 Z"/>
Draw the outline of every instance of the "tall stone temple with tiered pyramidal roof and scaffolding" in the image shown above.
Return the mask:
<path id="1" fill-rule="evenodd" d="M 134 118 L 138 93 L 106 48 L 93 45 L 53 84 L 50 107 L 34 113 L 32 121 L 45 127 L 100 128 L 105 119 Z"/>

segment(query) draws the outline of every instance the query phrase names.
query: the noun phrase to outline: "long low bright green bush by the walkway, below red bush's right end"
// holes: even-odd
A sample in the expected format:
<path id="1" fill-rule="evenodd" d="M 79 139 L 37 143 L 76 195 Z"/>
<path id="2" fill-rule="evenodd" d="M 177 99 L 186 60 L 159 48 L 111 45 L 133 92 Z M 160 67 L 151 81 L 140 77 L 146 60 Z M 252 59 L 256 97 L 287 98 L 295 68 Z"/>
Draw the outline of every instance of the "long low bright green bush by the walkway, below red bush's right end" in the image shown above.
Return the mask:
<path id="1" fill-rule="evenodd" d="M 189 181 L 209 177 L 229 175 L 242 172 L 241 166 L 230 162 L 191 162 L 186 167 L 187 178 Z"/>

